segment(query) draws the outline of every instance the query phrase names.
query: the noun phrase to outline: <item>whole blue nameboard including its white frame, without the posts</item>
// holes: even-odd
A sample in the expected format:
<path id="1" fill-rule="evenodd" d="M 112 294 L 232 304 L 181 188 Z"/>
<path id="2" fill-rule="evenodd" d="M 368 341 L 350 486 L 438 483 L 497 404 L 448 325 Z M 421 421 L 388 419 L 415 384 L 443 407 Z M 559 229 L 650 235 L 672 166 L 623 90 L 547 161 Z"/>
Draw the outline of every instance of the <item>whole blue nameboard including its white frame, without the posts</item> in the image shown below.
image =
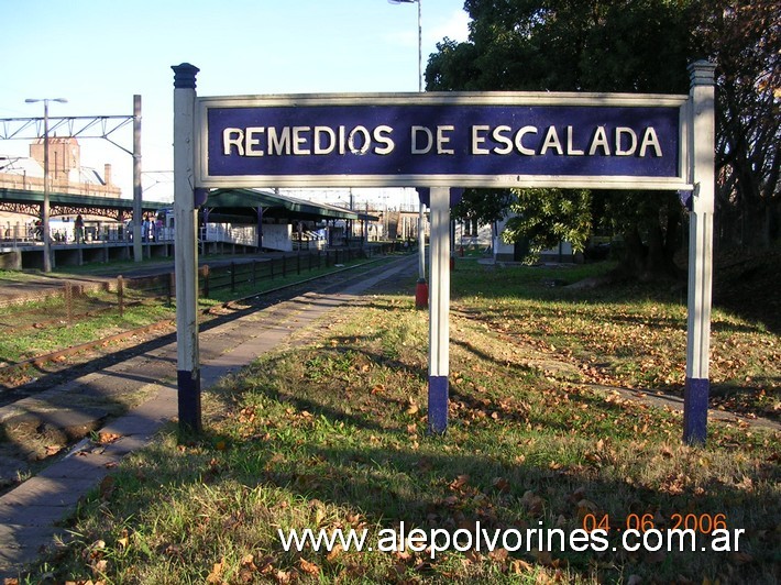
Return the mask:
<path id="1" fill-rule="evenodd" d="M 197 98 L 198 187 L 686 189 L 686 96 Z"/>

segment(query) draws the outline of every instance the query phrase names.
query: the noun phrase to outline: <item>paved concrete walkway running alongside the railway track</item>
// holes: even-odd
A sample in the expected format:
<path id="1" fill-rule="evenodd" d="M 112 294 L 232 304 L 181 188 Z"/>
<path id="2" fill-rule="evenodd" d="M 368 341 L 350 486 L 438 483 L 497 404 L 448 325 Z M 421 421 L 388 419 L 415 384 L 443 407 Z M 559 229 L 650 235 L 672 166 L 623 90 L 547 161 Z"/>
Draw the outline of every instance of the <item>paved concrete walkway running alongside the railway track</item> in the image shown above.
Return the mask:
<path id="1" fill-rule="evenodd" d="M 201 333 L 201 389 L 210 388 L 221 377 L 277 347 L 295 330 L 355 301 L 382 280 L 413 275 L 416 269 L 417 257 L 406 256 L 369 273 L 359 284 L 340 292 L 302 295 Z M 176 386 L 165 382 L 176 379 L 176 343 L 150 353 L 154 355 L 145 354 L 145 360 L 136 360 L 135 367 L 107 368 L 88 375 L 92 389 L 100 384 L 113 388 L 117 377 L 121 376 L 135 386 L 146 385 L 145 390 L 152 396 L 97 431 L 98 437 L 110 441 L 106 444 L 82 441 L 68 456 L 0 497 L 0 577 L 19 576 L 24 565 L 35 561 L 43 549 L 56 545 L 59 538 L 67 538 L 57 523 L 72 515 L 91 489 L 107 481 L 124 455 L 150 443 L 162 426 L 176 417 Z M 141 371 L 151 360 L 169 369 L 166 377 L 156 378 L 164 382 L 155 383 L 150 378 L 148 369 Z"/>

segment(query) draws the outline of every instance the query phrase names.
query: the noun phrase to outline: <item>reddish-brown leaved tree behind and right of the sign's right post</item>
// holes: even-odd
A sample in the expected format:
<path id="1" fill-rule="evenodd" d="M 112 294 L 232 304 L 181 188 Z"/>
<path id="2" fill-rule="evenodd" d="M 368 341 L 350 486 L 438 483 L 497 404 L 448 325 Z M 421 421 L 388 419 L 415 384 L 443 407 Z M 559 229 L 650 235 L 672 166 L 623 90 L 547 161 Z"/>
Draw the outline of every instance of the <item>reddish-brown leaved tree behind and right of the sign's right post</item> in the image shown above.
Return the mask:
<path id="1" fill-rule="evenodd" d="M 717 64 L 718 231 L 770 245 L 781 214 L 781 10 L 771 0 L 704 4 L 698 34 Z"/>

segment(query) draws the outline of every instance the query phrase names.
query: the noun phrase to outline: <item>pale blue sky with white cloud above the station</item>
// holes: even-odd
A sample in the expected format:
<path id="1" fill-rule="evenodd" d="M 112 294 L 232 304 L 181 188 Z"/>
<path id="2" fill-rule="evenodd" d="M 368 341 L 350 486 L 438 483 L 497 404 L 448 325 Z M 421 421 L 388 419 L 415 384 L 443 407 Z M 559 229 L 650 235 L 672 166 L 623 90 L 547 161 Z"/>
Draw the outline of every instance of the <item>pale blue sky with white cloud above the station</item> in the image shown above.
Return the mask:
<path id="1" fill-rule="evenodd" d="M 465 41 L 463 0 L 420 0 L 424 68 L 444 37 Z M 387 0 L 0 0 L 0 119 L 132 115 L 142 97 L 144 199 L 173 196 L 172 65 L 200 69 L 198 96 L 418 90 L 418 5 Z M 116 135 L 132 150 L 132 130 Z M 79 141 L 132 197 L 132 157 Z M 1 155 L 29 143 L 0 141 Z M 366 195 L 366 197 L 370 197 Z M 408 197 L 408 196 L 404 196 Z M 403 201 L 407 202 L 407 201 Z M 415 201 L 417 202 L 417 201 Z"/>

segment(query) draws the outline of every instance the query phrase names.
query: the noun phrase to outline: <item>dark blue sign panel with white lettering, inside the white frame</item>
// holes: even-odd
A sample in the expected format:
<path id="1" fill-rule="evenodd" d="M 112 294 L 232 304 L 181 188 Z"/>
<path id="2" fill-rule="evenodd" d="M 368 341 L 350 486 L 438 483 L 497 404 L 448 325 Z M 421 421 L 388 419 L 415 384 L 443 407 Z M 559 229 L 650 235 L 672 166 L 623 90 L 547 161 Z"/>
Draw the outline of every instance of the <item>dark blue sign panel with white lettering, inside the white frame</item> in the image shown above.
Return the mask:
<path id="1" fill-rule="evenodd" d="M 385 186 L 426 186 L 422 178 L 438 177 L 452 178 L 451 187 L 516 185 L 517 176 L 679 180 L 683 162 L 681 111 L 663 106 L 205 108 L 205 184 L 226 177 L 330 177 L 334 184 L 373 177 Z"/>

